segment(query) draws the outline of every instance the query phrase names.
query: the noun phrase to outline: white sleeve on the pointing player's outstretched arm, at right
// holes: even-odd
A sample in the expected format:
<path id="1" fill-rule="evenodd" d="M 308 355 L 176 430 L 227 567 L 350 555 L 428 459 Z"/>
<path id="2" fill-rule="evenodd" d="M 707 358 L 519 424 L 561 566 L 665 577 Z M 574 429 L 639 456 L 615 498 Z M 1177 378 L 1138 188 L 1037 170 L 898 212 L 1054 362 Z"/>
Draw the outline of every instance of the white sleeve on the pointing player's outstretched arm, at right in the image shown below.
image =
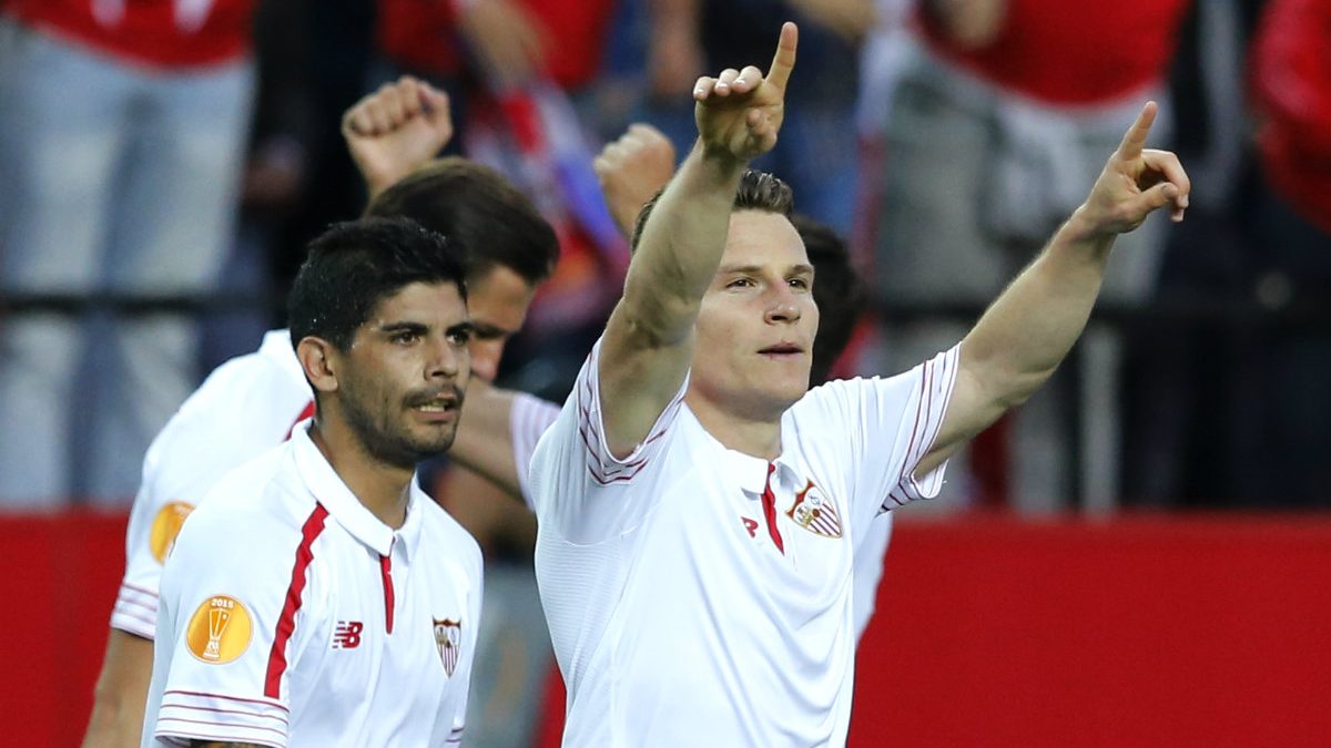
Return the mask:
<path id="1" fill-rule="evenodd" d="M 844 470 L 856 538 L 878 514 L 942 488 L 946 463 L 928 475 L 916 467 L 933 447 L 957 381 L 960 346 L 886 379 L 832 382 L 813 391 L 817 418 Z"/>

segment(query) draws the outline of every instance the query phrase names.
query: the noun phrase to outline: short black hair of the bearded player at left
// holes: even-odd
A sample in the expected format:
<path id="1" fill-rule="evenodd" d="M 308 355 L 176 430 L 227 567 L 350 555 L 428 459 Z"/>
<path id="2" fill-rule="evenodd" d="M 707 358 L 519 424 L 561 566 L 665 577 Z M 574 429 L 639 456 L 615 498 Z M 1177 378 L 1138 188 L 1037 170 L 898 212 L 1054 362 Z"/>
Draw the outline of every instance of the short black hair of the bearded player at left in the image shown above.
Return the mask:
<path id="1" fill-rule="evenodd" d="M 309 244 L 287 297 L 291 345 L 315 335 L 349 350 L 379 302 L 410 283 L 453 283 L 466 299 L 462 265 L 438 233 L 407 218 L 329 226 Z"/>

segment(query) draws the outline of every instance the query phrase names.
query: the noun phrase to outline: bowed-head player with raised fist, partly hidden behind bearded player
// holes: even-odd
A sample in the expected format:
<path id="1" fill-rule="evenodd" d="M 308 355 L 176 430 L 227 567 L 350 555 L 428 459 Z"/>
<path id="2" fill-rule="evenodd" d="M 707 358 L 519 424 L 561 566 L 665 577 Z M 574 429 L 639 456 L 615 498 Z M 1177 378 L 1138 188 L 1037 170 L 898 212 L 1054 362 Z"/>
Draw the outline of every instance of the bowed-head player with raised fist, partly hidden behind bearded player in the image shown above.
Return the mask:
<path id="1" fill-rule="evenodd" d="M 409 102 L 415 101 L 415 109 Z M 429 105 L 422 105 L 425 101 Z M 350 121 L 391 108 L 402 118 L 353 129 Z M 347 141 L 378 197 L 370 213 L 405 216 L 450 240 L 467 280 L 473 373 L 492 375 L 523 323 L 536 286 L 559 256 L 554 230 L 531 201 L 492 169 L 461 158 L 430 161 L 453 132 L 442 94 L 411 79 L 385 87 L 347 113 Z M 373 130 L 373 132 L 371 132 Z M 401 174 L 410 169 L 410 178 Z M 422 161 L 426 161 L 422 166 Z M 395 189 L 385 189 L 398 180 Z M 236 466 L 282 443 L 313 413 L 310 386 L 286 330 L 213 371 L 153 441 L 130 510 L 125 575 L 110 619 L 84 745 L 137 745 L 152 672 L 161 564 L 204 494 Z M 463 434 L 466 429 L 462 430 Z M 466 451 L 463 437 L 455 453 Z"/>

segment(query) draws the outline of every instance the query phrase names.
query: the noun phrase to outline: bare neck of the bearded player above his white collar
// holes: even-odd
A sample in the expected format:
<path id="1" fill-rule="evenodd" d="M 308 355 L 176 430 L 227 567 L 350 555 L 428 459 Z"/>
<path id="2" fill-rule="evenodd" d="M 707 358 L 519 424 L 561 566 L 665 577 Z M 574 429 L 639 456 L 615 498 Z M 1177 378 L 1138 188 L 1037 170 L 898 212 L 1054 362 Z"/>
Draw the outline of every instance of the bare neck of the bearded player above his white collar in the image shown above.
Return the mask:
<path id="1" fill-rule="evenodd" d="M 345 425 L 339 429 L 335 422 L 323 418 L 317 418 L 310 427 L 310 441 L 370 514 L 394 530 L 402 527 L 407 518 L 414 470 L 375 459 L 350 429 Z"/>

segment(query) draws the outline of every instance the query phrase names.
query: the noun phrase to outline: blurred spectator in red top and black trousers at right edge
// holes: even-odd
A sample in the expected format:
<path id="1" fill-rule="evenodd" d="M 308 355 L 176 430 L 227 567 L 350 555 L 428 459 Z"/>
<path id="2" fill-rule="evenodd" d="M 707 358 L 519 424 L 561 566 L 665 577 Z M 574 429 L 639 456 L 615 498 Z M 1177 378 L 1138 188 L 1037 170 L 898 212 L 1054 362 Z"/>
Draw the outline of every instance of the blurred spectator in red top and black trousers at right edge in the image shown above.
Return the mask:
<path id="1" fill-rule="evenodd" d="M 1264 258 L 1258 298 L 1282 310 L 1331 306 L 1331 1 L 1271 0 L 1251 51 L 1258 150 L 1271 189 L 1252 206 Z M 1262 465 L 1278 486 L 1259 504 L 1331 507 L 1331 330 L 1263 339 L 1268 417 Z"/>

